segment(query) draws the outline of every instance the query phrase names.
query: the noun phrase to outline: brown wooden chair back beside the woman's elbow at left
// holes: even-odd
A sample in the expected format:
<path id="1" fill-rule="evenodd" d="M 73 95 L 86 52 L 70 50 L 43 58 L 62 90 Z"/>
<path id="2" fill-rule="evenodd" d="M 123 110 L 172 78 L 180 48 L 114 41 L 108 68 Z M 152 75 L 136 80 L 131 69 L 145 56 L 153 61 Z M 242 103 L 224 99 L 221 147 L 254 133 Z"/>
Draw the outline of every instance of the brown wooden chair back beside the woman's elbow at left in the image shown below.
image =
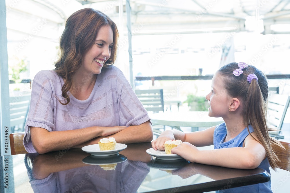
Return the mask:
<path id="1" fill-rule="evenodd" d="M 24 138 L 24 132 L 23 133 L 11 133 L 9 135 L 11 155 L 28 153 L 24 148 L 23 138 Z"/>

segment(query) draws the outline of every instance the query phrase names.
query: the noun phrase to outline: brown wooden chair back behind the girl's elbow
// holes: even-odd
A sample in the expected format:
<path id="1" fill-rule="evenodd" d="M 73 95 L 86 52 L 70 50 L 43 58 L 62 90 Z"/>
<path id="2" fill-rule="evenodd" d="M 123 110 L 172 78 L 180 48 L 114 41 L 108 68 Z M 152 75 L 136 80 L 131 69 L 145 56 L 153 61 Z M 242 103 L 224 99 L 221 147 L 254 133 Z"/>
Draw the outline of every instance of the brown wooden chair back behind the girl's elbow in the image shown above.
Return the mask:
<path id="1" fill-rule="evenodd" d="M 280 159 L 280 162 L 278 163 L 278 168 L 290 171 L 290 143 L 284 141 L 280 142 L 284 146 L 285 150 L 277 145 L 273 146 L 273 150 Z"/>

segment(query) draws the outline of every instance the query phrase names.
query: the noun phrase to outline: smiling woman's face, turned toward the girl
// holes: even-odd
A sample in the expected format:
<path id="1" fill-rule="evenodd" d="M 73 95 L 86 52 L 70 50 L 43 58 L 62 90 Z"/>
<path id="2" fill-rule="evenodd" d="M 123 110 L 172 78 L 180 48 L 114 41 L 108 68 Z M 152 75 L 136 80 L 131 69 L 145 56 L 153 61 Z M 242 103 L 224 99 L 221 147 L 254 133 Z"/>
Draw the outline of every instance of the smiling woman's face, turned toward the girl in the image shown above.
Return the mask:
<path id="1" fill-rule="evenodd" d="M 87 74 L 99 74 L 110 58 L 113 47 L 113 31 L 110 26 L 102 26 L 97 32 L 93 46 L 84 54 L 79 70 Z"/>

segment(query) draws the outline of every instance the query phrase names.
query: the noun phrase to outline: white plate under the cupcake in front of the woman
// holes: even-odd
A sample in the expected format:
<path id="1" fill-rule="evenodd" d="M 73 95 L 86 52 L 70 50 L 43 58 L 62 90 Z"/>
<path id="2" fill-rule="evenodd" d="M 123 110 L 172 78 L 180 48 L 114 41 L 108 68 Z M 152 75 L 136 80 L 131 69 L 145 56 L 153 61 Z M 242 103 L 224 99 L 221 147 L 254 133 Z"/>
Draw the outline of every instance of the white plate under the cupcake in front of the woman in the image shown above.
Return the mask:
<path id="1" fill-rule="evenodd" d="M 115 155 L 118 154 L 120 151 L 126 149 L 127 145 L 125 144 L 116 144 L 116 148 L 113 150 L 104 150 L 101 151 L 99 144 L 93 144 L 89 146 L 84 146 L 81 148 L 81 150 L 90 153 L 94 156 L 108 156 L 108 155 Z"/>

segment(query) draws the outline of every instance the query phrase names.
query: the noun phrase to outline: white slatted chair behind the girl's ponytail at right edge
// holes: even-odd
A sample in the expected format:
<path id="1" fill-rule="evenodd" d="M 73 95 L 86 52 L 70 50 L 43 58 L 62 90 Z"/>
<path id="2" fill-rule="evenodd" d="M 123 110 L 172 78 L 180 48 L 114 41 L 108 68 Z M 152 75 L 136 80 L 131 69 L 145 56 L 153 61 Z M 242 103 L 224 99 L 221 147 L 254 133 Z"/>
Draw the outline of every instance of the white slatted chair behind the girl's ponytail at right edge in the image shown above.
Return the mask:
<path id="1" fill-rule="evenodd" d="M 290 96 L 270 93 L 268 97 L 268 127 L 275 128 L 275 131 L 269 131 L 271 137 L 284 139 L 280 135 L 283 121 L 290 103 Z"/>

